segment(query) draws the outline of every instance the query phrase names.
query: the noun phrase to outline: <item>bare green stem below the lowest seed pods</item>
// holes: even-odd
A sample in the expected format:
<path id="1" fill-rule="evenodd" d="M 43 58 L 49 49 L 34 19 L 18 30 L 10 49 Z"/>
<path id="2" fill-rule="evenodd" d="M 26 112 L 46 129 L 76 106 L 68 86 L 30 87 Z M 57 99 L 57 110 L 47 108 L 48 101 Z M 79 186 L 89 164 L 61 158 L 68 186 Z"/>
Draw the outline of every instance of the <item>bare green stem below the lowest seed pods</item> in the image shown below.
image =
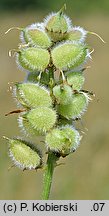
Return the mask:
<path id="1" fill-rule="evenodd" d="M 56 166 L 56 161 L 59 157 L 49 152 L 47 164 L 45 167 L 44 179 L 43 179 L 43 192 L 42 192 L 42 200 L 48 200 L 50 195 L 50 189 L 52 184 L 53 171 Z"/>

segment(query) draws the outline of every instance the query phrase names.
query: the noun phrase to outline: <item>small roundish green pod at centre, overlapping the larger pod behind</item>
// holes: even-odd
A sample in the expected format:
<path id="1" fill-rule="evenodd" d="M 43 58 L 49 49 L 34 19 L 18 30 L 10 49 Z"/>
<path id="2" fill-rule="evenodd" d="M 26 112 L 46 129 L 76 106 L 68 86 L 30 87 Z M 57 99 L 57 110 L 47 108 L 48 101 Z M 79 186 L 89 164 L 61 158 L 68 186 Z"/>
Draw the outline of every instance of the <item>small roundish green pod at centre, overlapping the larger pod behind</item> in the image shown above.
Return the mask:
<path id="1" fill-rule="evenodd" d="M 53 94 L 59 104 L 68 104 L 72 100 L 72 88 L 68 85 L 56 85 Z"/>

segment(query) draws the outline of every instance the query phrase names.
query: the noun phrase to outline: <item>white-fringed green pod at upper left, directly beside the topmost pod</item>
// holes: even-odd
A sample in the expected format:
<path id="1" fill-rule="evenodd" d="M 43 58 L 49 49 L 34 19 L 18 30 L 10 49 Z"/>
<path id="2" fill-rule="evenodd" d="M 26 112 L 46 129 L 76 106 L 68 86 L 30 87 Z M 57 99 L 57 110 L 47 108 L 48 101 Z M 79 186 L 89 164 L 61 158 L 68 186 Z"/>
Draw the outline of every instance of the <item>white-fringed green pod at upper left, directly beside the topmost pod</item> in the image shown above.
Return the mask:
<path id="1" fill-rule="evenodd" d="M 32 24 L 21 32 L 21 40 L 35 47 L 47 49 L 51 46 L 51 40 L 38 24 Z"/>

